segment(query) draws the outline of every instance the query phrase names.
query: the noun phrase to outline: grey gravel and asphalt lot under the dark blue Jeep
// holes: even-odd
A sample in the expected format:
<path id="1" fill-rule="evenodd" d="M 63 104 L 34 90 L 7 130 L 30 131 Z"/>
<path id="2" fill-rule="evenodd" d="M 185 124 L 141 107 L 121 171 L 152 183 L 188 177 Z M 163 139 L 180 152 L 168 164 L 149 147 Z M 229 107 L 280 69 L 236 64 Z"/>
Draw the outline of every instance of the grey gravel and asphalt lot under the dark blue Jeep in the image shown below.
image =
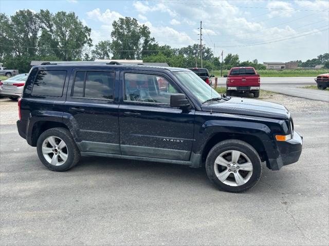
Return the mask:
<path id="1" fill-rule="evenodd" d="M 51 172 L 0 99 L 1 245 L 328 245 L 329 104 L 266 93 L 304 136 L 299 162 L 252 190 L 220 192 L 203 169 L 83 158 Z"/>

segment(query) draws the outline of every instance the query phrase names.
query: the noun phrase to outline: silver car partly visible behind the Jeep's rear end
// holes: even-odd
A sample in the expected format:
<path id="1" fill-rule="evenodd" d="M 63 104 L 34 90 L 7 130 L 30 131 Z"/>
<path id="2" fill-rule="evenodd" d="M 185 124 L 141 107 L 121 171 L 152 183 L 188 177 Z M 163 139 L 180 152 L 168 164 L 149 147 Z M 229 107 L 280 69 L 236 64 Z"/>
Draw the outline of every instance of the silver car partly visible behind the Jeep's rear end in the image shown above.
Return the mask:
<path id="1" fill-rule="evenodd" d="M 28 74 L 22 73 L 0 81 L 0 96 L 8 96 L 11 100 L 21 97 Z"/>

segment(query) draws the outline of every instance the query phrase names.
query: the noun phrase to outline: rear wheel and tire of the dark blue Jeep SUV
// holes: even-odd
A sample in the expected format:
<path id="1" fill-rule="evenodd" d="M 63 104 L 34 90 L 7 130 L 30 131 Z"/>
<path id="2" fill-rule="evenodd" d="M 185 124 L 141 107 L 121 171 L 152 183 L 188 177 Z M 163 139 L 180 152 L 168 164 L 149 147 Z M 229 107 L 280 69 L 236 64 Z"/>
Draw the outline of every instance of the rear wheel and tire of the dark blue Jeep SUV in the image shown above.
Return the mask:
<path id="1" fill-rule="evenodd" d="M 54 138 L 55 142 L 51 140 L 52 138 Z M 64 148 L 61 148 L 61 140 L 64 141 Z M 57 151 L 54 150 L 54 146 L 57 146 Z M 69 130 L 65 128 L 51 128 L 43 132 L 38 138 L 36 150 L 43 165 L 52 171 L 66 171 L 74 167 L 80 159 L 80 151 L 76 145 L 76 142 L 74 141 Z M 56 152 L 57 155 L 55 154 Z M 53 156 L 56 156 L 56 158 L 53 158 Z M 53 165 L 51 162 L 57 166 Z"/>

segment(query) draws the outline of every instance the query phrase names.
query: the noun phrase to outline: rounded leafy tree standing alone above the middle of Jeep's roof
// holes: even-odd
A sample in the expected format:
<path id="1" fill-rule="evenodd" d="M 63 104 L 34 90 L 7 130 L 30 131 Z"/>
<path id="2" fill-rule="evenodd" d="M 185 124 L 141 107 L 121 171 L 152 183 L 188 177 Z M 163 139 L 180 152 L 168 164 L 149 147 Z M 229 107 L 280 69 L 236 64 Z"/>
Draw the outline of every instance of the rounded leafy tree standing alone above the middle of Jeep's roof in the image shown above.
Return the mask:
<path id="1" fill-rule="evenodd" d="M 147 53 L 155 43 L 150 29 L 139 25 L 137 19 L 131 17 L 119 18 L 112 23 L 113 39 L 111 48 L 116 59 L 138 59 Z"/>

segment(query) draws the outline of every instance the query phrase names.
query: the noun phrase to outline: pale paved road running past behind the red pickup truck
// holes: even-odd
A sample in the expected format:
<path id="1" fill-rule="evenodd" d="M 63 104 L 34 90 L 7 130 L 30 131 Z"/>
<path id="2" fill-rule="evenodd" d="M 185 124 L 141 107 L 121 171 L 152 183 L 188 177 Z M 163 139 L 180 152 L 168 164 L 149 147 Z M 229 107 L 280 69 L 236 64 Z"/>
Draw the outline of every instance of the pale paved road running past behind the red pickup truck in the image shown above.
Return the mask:
<path id="1" fill-rule="evenodd" d="M 226 78 L 219 78 L 218 85 L 225 86 Z M 314 77 L 262 77 L 261 88 L 289 96 L 329 102 L 329 91 L 301 88 L 316 85 Z"/>

